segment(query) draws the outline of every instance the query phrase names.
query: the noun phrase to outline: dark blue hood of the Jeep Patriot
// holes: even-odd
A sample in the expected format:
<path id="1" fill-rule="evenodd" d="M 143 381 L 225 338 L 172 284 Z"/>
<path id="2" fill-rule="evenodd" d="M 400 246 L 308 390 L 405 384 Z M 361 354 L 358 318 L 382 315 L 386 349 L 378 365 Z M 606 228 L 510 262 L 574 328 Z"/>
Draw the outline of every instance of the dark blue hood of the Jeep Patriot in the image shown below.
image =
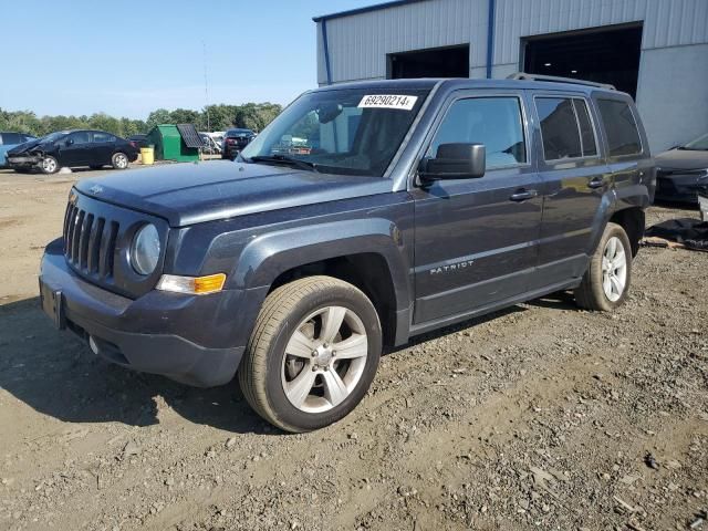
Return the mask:
<path id="1" fill-rule="evenodd" d="M 391 179 L 229 160 L 168 165 L 79 181 L 76 189 L 184 227 L 391 191 Z"/>

